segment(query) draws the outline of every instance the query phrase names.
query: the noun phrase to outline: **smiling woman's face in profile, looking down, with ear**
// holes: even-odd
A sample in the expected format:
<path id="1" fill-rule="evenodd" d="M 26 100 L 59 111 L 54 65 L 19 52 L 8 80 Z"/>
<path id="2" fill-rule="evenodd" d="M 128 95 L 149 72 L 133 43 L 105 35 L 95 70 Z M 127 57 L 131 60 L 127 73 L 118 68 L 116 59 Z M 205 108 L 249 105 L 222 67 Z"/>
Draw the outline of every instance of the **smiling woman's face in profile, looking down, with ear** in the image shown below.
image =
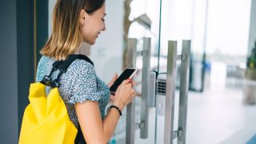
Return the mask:
<path id="1" fill-rule="evenodd" d="M 93 14 L 87 14 L 85 10 L 80 13 L 80 26 L 84 42 L 93 45 L 101 31 L 106 30 L 104 17 L 106 16 L 106 4 Z"/>

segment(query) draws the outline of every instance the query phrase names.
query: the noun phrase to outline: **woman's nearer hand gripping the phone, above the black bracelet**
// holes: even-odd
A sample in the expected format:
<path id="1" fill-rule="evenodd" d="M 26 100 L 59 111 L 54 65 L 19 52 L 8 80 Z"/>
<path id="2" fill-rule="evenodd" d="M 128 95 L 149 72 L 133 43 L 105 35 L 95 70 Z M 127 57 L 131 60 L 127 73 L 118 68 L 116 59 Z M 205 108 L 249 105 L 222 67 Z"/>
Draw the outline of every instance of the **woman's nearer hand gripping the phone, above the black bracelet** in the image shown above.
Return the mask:
<path id="1" fill-rule="evenodd" d="M 113 105 L 118 106 L 119 109 L 123 108 L 133 101 L 135 96 L 135 90 L 133 88 L 135 82 L 130 78 L 124 80 L 115 92 L 115 98 Z"/>

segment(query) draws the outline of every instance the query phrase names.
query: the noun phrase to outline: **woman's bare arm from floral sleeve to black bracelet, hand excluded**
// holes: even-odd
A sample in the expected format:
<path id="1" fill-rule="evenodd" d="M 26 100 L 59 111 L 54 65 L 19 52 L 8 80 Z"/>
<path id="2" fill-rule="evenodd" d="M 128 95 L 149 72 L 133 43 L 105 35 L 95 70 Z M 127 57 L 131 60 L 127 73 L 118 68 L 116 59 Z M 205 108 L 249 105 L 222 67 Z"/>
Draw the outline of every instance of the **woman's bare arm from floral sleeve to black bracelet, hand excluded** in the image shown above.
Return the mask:
<path id="1" fill-rule="evenodd" d="M 118 107 L 123 110 L 123 106 Z M 110 109 L 102 122 L 98 102 L 76 103 L 75 109 L 86 143 L 106 144 L 118 124 L 118 110 Z"/>

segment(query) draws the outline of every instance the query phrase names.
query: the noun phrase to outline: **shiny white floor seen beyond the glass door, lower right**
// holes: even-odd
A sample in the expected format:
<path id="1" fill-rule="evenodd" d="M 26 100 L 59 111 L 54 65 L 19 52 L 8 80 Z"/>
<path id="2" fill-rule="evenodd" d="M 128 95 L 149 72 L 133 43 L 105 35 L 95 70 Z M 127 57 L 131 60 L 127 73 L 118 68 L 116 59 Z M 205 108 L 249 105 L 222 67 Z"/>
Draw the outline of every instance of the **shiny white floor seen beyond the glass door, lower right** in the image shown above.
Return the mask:
<path id="1" fill-rule="evenodd" d="M 246 143 L 256 134 L 256 106 L 242 103 L 242 90 L 190 93 L 189 101 L 187 143 Z M 248 126 L 252 130 L 246 130 Z M 233 137 L 239 131 L 242 134 Z M 234 138 L 242 142 L 226 141 Z"/>

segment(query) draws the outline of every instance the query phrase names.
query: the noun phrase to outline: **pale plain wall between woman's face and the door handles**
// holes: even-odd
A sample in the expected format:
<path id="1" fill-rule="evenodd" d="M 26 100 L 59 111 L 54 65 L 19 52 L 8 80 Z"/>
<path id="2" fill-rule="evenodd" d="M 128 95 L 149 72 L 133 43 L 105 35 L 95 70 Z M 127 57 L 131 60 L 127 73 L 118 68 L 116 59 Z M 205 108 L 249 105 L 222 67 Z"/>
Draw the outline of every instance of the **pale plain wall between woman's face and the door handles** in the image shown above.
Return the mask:
<path id="1" fill-rule="evenodd" d="M 114 73 L 122 72 L 123 1 L 106 1 L 106 31 L 91 47 L 90 58 L 100 78 L 108 82 Z"/>

